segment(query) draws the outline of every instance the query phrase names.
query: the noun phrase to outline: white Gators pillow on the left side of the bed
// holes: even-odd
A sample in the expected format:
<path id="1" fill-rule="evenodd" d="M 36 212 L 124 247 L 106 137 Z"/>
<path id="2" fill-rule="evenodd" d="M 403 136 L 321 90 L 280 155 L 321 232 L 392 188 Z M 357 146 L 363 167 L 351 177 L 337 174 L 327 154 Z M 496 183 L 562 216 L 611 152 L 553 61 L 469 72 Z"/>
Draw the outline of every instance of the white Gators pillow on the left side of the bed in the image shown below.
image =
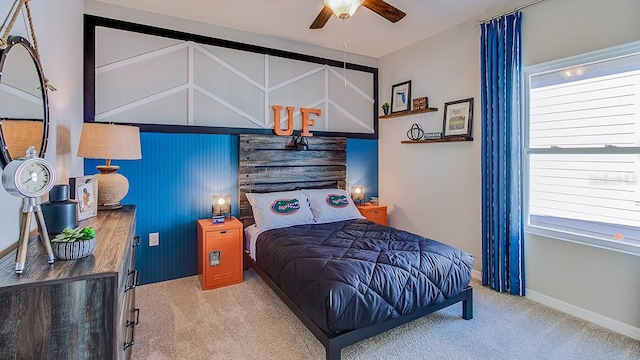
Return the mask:
<path id="1" fill-rule="evenodd" d="M 262 231 L 313 223 L 313 213 L 302 191 L 246 195 L 253 209 L 253 219 Z"/>

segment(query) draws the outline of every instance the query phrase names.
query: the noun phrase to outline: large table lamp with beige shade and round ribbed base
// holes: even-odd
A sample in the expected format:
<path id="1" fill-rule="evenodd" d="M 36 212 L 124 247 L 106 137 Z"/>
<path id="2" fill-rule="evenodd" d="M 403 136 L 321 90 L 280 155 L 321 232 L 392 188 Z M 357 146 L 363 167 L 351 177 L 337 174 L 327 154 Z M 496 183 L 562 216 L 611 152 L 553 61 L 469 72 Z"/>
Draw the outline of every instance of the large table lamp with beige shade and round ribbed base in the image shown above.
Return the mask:
<path id="1" fill-rule="evenodd" d="M 78 146 L 78 156 L 106 159 L 106 165 L 96 166 L 98 174 L 98 210 L 120 209 L 129 191 L 129 181 L 118 174 L 120 166 L 111 160 L 142 159 L 140 129 L 136 126 L 106 123 L 84 123 Z"/>

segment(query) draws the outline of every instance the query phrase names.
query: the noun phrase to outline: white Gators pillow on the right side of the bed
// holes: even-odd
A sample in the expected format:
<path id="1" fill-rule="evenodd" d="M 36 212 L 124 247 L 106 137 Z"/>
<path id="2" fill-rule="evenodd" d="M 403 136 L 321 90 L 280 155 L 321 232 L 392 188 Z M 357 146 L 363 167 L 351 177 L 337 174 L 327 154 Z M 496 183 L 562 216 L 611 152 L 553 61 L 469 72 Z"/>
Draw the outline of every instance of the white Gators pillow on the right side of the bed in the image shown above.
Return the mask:
<path id="1" fill-rule="evenodd" d="M 364 219 L 349 194 L 340 189 L 303 189 L 317 223 Z"/>

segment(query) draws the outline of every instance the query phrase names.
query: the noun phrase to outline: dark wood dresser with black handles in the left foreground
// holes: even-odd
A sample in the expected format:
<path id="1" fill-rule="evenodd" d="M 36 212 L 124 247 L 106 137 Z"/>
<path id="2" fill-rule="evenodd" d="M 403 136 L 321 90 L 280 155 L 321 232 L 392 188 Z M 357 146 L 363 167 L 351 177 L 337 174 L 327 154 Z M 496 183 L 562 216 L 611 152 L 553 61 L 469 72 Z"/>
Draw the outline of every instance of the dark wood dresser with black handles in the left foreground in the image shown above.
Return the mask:
<path id="1" fill-rule="evenodd" d="M 93 254 L 47 263 L 32 239 L 22 276 L 15 250 L 0 259 L 0 359 L 128 359 L 135 307 L 135 206 L 81 221 L 96 229 Z"/>

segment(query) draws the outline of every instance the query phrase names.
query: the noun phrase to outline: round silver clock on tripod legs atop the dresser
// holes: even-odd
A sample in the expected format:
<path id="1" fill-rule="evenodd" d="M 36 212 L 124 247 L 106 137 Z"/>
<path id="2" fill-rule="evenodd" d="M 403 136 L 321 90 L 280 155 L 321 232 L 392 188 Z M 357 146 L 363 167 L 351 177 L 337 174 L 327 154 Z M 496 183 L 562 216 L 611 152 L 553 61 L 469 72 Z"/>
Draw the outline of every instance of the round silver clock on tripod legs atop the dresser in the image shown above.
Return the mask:
<path id="1" fill-rule="evenodd" d="M 38 233 L 42 246 L 47 252 L 49 264 L 53 264 L 54 256 L 49 242 L 49 233 L 44 222 L 42 209 L 36 199 L 46 194 L 56 182 L 56 173 L 47 160 L 37 156 L 33 146 L 29 147 L 26 156 L 14 159 L 2 172 L 2 186 L 7 192 L 23 198 L 20 239 L 16 256 L 16 274 L 22 274 L 27 260 L 31 215 L 35 215 Z"/>

